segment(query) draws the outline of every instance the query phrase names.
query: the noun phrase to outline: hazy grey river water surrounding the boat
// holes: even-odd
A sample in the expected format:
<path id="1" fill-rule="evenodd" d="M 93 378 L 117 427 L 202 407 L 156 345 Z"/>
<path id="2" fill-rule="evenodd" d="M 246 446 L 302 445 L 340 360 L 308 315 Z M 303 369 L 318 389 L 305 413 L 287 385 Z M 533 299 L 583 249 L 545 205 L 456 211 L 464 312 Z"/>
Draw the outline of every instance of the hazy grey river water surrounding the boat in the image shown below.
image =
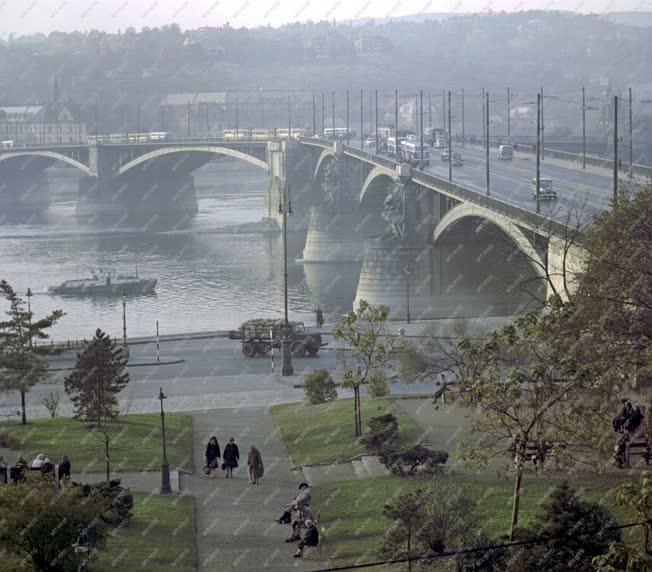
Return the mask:
<path id="1" fill-rule="evenodd" d="M 242 162 L 222 160 L 195 172 L 199 213 L 183 225 L 163 221 L 134 228 L 75 216 L 77 178 L 72 169 L 50 169 L 51 205 L 25 219 L 0 217 L 0 279 L 20 295 L 31 288 L 36 318 L 60 308 L 51 330 L 57 340 L 89 338 L 96 328 L 122 336 L 122 300 L 48 293 L 64 280 L 90 276 L 101 262 L 119 273 L 158 279 L 156 293 L 129 297 L 127 333 L 154 335 L 234 328 L 254 317 L 282 317 L 283 250 L 280 233 L 238 234 L 225 227 L 261 220 L 267 175 Z M 144 230 L 147 229 L 147 230 Z M 222 230 L 220 230 L 222 229 Z M 305 233 L 290 233 L 290 319 L 314 323 L 351 308 L 359 265 L 296 264 Z M 4 309 L 4 308 L 3 308 Z"/>

